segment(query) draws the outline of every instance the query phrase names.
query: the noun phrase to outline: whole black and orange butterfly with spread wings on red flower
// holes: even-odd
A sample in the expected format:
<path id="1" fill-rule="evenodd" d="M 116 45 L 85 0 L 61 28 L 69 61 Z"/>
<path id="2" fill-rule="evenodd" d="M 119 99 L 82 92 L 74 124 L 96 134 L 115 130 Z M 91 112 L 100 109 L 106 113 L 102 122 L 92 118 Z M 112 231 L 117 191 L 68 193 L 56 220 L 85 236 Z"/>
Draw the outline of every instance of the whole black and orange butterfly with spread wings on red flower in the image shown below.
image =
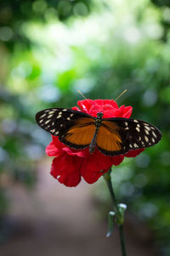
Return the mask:
<path id="1" fill-rule="evenodd" d="M 98 112 L 92 117 L 81 111 L 65 108 L 50 108 L 37 112 L 37 124 L 69 147 L 82 150 L 95 147 L 105 156 L 125 154 L 127 151 L 155 145 L 161 132 L 148 122 L 137 119 L 103 118 Z"/>

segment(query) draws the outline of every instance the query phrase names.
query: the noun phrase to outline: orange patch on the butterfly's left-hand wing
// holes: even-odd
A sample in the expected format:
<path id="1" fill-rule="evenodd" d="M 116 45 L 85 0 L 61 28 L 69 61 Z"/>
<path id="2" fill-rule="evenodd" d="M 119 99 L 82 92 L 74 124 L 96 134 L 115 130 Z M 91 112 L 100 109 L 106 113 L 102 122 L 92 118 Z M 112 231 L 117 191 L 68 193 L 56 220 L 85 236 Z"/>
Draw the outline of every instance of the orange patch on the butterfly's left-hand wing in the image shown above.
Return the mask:
<path id="1" fill-rule="evenodd" d="M 94 137 L 95 123 L 91 118 L 82 117 L 67 132 L 65 139 L 76 145 L 89 145 Z"/>

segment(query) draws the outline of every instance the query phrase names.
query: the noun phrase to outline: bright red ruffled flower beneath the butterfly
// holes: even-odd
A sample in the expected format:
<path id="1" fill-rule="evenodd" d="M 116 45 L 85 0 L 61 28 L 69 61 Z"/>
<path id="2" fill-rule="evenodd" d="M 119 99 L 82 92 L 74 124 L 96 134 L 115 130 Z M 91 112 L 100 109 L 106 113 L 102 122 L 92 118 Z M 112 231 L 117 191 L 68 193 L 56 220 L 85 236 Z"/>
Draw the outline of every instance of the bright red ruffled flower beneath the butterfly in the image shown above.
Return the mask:
<path id="1" fill-rule="evenodd" d="M 114 100 L 80 100 L 73 110 L 88 113 L 96 117 L 97 112 L 101 111 L 105 117 L 125 117 L 129 118 L 132 114 L 132 106 L 122 105 L 120 108 Z M 53 141 L 47 146 L 48 156 L 54 156 L 51 167 L 51 174 L 60 183 L 66 186 L 76 186 L 81 181 L 81 177 L 89 184 L 94 183 L 101 175 L 106 173 L 112 165 L 120 164 L 124 156 L 138 156 L 143 149 L 129 151 L 125 155 L 105 156 L 96 148 L 90 154 L 88 148 L 77 151 L 61 143 L 56 136 L 52 136 Z"/>

